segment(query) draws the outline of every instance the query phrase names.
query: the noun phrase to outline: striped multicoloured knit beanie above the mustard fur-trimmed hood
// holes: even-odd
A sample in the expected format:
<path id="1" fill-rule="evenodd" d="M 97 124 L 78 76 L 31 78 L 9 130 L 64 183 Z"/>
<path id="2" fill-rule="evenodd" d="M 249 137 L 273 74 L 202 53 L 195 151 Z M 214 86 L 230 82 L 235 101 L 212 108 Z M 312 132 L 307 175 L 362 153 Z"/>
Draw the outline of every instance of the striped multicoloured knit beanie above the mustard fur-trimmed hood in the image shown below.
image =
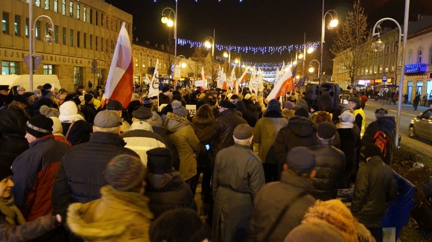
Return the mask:
<path id="1" fill-rule="evenodd" d="M 145 176 L 141 159 L 128 154 L 115 156 L 105 168 L 106 182 L 120 191 L 139 191 Z"/>

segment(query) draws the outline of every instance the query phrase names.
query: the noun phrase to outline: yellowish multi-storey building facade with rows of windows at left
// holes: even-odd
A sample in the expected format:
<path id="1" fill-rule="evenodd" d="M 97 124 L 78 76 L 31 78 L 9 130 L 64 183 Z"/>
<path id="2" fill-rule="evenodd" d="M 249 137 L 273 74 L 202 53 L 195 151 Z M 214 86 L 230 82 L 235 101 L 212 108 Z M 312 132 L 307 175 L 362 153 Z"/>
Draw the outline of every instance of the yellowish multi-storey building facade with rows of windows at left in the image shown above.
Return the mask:
<path id="1" fill-rule="evenodd" d="M 123 22 L 131 35 L 132 15 L 102 0 L 32 2 L 33 23 L 29 23 L 29 0 L 0 1 L 2 74 L 29 73 L 23 56 L 29 55 L 30 29 L 34 24 L 35 55 L 42 57 L 35 74 L 56 74 L 67 91 L 76 90 L 80 83 L 86 86 L 89 80 L 94 86 L 103 85 Z M 46 18 L 34 22 L 42 15 L 50 17 L 54 26 L 49 26 Z M 52 45 L 43 41 L 48 28 L 53 29 Z M 96 68 L 92 66 L 94 60 Z"/>

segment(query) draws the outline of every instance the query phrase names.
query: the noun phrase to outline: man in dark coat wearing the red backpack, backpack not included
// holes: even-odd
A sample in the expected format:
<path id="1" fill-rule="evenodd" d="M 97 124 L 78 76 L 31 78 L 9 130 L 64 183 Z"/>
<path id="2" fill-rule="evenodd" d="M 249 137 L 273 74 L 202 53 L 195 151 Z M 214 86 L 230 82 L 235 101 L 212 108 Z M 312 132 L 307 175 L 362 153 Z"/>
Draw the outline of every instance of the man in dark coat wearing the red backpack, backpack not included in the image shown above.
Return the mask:
<path id="1" fill-rule="evenodd" d="M 375 110 L 375 121 L 372 122 L 368 128 L 366 128 L 365 135 L 362 139 L 362 145 L 366 146 L 370 143 L 374 143 L 374 136 L 378 131 L 384 132 L 390 143 L 387 145 L 387 153 L 384 155 L 384 162 L 387 165 L 391 165 L 393 160 L 393 150 L 395 148 L 396 121 L 393 116 L 388 116 L 388 111 L 384 108 Z"/>

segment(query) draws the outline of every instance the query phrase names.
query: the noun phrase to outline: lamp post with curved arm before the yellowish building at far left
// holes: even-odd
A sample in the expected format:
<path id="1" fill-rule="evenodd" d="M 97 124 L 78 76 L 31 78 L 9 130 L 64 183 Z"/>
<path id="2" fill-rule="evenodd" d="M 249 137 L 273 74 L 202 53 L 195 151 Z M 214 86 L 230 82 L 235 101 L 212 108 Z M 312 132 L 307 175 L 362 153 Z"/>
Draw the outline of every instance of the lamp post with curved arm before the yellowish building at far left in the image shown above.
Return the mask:
<path id="1" fill-rule="evenodd" d="M 33 18 L 33 1 L 30 1 L 30 3 L 28 4 L 28 22 L 32 23 L 32 18 Z M 30 82 L 30 91 L 33 90 L 33 73 L 34 71 L 36 71 L 36 68 L 33 68 L 34 66 L 34 58 L 35 58 L 35 45 L 34 43 L 36 42 L 36 37 L 35 37 L 35 32 L 34 29 L 36 28 L 36 22 L 38 22 L 39 19 L 41 18 L 47 18 L 50 21 L 51 26 L 54 26 L 54 22 L 53 20 L 46 16 L 46 15 L 41 15 L 39 17 L 37 17 L 34 20 L 33 23 L 33 28 L 30 29 L 30 38 L 28 39 L 28 69 L 29 69 L 29 82 Z M 52 45 L 54 42 L 54 38 L 51 35 L 51 31 L 53 31 L 51 28 L 48 28 L 48 34 L 45 35 L 44 37 L 44 42 L 47 45 Z M 39 64 L 39 63 L 38 63 Z M 34 70 L 33 70 L 34 69 Z"/>

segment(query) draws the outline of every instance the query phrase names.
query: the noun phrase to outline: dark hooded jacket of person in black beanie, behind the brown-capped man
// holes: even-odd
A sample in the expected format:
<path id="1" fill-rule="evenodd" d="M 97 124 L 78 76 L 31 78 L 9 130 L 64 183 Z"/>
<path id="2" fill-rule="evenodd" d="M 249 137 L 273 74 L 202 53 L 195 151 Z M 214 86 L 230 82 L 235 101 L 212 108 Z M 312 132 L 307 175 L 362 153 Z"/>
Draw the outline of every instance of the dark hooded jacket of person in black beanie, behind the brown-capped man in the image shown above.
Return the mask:
<path id="1" fill-rule="evenodd" d="M 274 154 L 279 164 L 279 173 L 285 163 L 286 154 L 294 147 L 311 147 L 316 144 L 316 124 L 306 117 L 292 116 L 288 125 L 280 129 L 274 142 Z"/>

